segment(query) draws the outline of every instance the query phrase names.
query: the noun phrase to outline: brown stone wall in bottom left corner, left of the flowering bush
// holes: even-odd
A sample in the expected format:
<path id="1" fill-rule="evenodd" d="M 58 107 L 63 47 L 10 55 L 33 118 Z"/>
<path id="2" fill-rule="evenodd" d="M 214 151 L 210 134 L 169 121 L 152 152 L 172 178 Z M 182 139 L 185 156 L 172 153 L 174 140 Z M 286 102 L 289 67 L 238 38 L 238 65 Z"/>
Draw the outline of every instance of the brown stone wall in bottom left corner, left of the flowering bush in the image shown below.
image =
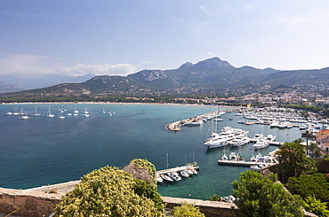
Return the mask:
<path id="1" fill-rule="evenodd" d="M 49 216 L 60 203 L 60 194 L 0 188 L 0 213 L 25 217 Z"/>

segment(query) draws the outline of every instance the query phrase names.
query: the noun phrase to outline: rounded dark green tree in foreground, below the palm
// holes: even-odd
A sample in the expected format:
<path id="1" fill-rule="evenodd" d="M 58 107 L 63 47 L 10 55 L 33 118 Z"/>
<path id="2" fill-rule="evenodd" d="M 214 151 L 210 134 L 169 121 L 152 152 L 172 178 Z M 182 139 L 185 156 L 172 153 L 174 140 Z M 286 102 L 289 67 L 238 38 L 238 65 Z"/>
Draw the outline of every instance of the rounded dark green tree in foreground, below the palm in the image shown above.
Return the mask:
<path id="1" fill-rule="evenodd" d="M 267 177 L 247 170 L 239 178 L 240 182 L 232 182 L 238 216 L 303 216 L 301 198 L 291 195 L 281 183 L 276 182 L 275 174 Z"/>

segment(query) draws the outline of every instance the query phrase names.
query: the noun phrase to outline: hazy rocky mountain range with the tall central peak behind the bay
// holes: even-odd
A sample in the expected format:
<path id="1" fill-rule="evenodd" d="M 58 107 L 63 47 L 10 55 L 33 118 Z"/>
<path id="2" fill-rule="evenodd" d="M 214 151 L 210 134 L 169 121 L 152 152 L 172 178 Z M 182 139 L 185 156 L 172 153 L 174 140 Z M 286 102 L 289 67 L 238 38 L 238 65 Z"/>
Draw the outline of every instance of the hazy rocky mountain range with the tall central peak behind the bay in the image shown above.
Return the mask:
<path id="1" fill-rule="evenodd" d="M 93 76 L 79 83 L 61 83 L 44 89 L 20 91 L 15 95 L 33 93 L 60 96 L 159 96 L 233 90 L 255 92 L 264 87 L 270 89 L 282 84 L 329 86 L 329 67 L 317 70 L 280 71 L 252 66 L 235 67 L 221 58 L 209 58 L 197 64 L 187 62 L 177 69 L 142 70 L 127 76 Z"/>

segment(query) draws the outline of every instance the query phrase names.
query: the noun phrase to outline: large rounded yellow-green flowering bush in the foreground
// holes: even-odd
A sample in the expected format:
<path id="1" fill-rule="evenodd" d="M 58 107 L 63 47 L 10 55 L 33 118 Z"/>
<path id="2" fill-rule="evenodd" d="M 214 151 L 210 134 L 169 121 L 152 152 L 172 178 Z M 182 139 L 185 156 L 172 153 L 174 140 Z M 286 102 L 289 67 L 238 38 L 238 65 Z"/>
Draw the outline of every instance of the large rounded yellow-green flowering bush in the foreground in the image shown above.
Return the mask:
<path id="1" fill-rule="evenodd" d="M 155 203 L 135 192 L 131 174 L 116 167 L 101 167 L 85 174 L 55 208 L 54 216 L 156 216 Z"/>

